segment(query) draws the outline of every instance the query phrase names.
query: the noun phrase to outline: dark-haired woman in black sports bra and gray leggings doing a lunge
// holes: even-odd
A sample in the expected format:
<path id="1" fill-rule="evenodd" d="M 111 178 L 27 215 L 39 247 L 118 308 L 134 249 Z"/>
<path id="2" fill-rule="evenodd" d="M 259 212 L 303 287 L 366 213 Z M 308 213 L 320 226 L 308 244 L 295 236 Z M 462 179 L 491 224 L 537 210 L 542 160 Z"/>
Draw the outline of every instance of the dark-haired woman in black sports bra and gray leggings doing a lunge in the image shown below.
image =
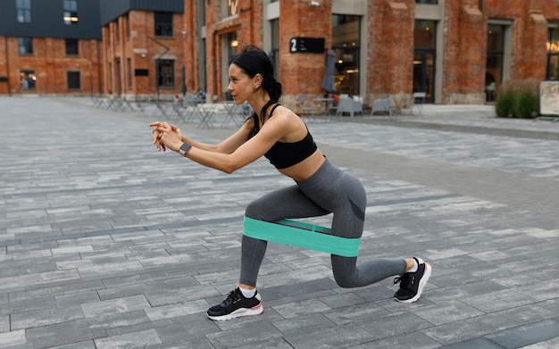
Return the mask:
<path id="1" fill-rule="evenodd" d="M 229 62 L 229 92 L 236 104 L 245 101 L 254 114 L 219 145 L 182 136 L 167 122 L 154 122 L 154 144 L 215 170 L 231 173 L 262 156 L 295 185 L 255 200 L 246 217 L 275 221 L 333 213 L 331 234 L 358 238 L 363 234 L 366 195 L 363 185 L 349 172 L 338 169 L 321 154 L 295 112 L 278 104 L 281 84 L 274 78 L 271 60 L 261 49 L 247 46 Z M 267 242 L 242 237 L 238 287 L 222 303 L 207 311 L 212 320 L 229 320 L 263 312 L 256 278 Z M 331 255 L 334 278 L 340 287 L 363 287 L 399 275 L 395 298 L 412 303 L 419 299 L 430 277 L 430 265 L 419 258 L 377 259 L 356 265 L 356 257 Z"/>

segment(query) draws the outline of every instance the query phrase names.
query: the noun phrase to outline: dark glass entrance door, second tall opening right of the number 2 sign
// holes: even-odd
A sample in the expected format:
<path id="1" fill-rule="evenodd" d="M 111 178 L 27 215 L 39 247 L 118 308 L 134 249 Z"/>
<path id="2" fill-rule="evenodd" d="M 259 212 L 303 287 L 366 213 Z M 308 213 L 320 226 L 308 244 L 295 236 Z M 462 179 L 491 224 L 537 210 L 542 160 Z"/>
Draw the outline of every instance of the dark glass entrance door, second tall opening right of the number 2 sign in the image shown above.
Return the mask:
<path id="1" fill-rule="evenodd" d="M 435 50 L 416 49 L 413 54 L 413 92 L 425 92 L 425 102 L 435 102 Z"/>

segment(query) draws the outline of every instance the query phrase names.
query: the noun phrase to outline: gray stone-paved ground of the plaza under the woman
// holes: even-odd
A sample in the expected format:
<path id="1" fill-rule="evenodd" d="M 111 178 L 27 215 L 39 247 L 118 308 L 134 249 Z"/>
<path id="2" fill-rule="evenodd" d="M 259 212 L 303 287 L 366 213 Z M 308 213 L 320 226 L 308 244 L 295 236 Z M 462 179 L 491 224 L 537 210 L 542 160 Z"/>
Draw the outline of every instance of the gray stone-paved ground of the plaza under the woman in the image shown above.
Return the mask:
<path id="1" fill-rule="evenodd" d="M 391 278 L 339 288 L 327 254 L 271 244 L 263 315 L 213 322 L 205 310 L 238 279 L 244 207 L 290 181 L 265 160 L 226 175 L 158 153 L 147 123 L 162 116 L 80 98 L 0 106 L 2 348 L 559 347 L 559 122 L 440 107 L 309 123 L 367 189 L 360 260 L 428 260 L 423 297 L 396 303 Z"/>

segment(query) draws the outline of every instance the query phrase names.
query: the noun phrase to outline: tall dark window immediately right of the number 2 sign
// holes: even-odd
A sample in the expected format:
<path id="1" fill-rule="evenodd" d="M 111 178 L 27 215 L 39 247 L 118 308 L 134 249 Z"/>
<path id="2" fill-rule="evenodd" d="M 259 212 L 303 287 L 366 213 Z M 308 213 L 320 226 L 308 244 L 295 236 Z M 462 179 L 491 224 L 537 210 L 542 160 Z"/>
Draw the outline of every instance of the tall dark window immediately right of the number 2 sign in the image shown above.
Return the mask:
<path id="1" fill-rule="evenodd" d="M 332 49 L 336 54 L 334 83 L 337 94 L 357 96 L 361 62 L 361 17 L 346 14 L 332 15 Z"/>

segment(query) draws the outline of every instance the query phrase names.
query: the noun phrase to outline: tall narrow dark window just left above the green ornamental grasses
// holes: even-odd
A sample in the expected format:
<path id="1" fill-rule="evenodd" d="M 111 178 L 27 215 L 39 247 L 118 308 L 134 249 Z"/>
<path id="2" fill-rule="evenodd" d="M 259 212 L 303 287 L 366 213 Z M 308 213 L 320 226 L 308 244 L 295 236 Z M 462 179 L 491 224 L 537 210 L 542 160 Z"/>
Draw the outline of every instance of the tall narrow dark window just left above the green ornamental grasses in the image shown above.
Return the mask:
<path id="1" fill-rule="evenodd" d="M 505 57 L 505 26 L 488 25 L 487 62 L 485 68 L 485 90 L 488 101 L 495 98 L 495 91 L 503 81 L 503 61 Z"/>

